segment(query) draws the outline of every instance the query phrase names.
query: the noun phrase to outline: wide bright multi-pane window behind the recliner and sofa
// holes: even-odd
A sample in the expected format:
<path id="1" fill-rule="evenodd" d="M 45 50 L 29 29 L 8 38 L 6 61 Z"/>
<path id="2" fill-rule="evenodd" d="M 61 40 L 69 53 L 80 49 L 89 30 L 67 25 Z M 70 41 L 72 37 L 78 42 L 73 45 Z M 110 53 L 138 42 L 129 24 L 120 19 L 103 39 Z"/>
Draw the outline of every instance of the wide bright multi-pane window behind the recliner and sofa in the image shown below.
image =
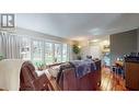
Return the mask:
<path id="1" fill-rule="evenodd" d="M 62 43 L 21 38 L 21 58 L 31 60 L 36 67 L 69 60 L 68 45 Z"/>

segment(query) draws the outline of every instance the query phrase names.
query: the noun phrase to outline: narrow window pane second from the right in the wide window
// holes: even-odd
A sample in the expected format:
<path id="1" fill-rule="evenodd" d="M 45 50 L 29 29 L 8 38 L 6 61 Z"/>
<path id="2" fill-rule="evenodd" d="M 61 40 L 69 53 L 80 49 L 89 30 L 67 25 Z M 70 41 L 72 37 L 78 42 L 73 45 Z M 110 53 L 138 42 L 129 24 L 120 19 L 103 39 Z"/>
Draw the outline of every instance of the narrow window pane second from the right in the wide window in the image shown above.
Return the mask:
<path id="1" fill-rule="evenodd" d="M 61 62 L 61 45 L 55 44 L 55 62 Z"/>

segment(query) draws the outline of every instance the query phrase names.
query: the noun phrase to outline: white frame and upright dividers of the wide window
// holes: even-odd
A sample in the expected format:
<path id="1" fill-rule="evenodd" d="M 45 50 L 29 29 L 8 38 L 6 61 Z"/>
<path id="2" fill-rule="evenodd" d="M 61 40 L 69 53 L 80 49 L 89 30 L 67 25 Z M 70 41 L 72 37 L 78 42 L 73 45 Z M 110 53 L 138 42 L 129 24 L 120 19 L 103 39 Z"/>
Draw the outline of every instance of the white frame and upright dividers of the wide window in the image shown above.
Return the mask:
<path id="1" fill-rule="evenodd" d="M 69 61 L 69 59 L 70 59 L 70 45 L 69 44 L 67 44 L 67 43 L 62 43 L 62 42 L 56 42 L 56 41 L 50 41 L 50 39 L 40 39 L 40 38 L 32 38 L 32 37 L 27 37 L 27 36 L 21 36 L 21 38 L 28 38 L 30 41 L 30 49 L 31 49 L 31 61 L 34 61 L 34 53 L 33 53 L 33 43 L 34 42 L 40 42 L 42 43 L 42 51 L 40 51 L 40 54 L 42 54 L 42 61 L 43 61 L 43 63 L 47 63 L 45 60 L 46 60 L 46 56 L 45 56 L 45 53 L 46 53 L 46 49 L 45 49 L 45 45 L 46 45 L 46 43 L 50 43 L 51 45 L 53 45 L 53 63 L 55 63 L 55 44 L 59 44 L 60 45 L 60 61 L 59 62 L 66 62 L 66 61 Z M 63 49 L 63 45 L 67 45 L 67 59 L 66 59 L 66 61 L 62 61 L 62 49 Z M 20 51 L 21 53 L 21 51 Z"/>

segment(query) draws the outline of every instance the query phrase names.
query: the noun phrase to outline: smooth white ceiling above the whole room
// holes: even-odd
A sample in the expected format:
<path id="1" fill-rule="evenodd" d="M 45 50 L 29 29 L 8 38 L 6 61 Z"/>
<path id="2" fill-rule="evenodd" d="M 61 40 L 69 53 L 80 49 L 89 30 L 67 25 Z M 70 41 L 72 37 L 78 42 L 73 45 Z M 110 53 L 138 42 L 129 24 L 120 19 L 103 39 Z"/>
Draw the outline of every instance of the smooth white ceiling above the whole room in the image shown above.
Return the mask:
<path id="1" fill-rule="evenodd" d="M 80 41 L 137 28 L 139 14 L 18 13 L 16 26 Z"/>

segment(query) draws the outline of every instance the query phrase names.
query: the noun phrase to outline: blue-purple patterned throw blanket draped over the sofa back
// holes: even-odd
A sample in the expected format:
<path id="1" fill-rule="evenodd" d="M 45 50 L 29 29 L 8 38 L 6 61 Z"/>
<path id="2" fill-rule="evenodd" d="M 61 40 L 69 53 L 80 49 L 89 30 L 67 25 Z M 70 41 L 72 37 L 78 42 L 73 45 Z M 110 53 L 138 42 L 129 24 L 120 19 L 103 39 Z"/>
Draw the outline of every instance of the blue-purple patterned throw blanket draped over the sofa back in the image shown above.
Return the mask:
<path id="1" fill-rule="evenodd" d="M 82 78 L 86 73 L 90 73 L 93 70 L 96 70 L 96 66 L 91 59 L 86 60 L 74 60 L 70 61 L 71 65 L 76 68 L 77 78 Z"/>

